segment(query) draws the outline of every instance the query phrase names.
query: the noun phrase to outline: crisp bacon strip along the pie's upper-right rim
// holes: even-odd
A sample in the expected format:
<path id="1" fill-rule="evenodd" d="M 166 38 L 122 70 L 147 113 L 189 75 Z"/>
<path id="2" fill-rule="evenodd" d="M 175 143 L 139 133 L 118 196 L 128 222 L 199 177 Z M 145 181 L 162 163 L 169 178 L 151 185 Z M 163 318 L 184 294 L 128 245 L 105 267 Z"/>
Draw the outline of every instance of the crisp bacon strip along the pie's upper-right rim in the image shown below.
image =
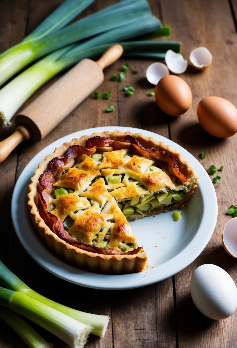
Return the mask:
<path id="1" fill-rule="evenodd" d="M 134 136 L 127 135 L 125 141 L 131 143 L 131 149 L 141 156 L 149 159 L 161 160 L 169 164 L 169 172 L 180 180 L 181 184 L 187 183 L 186 177 L 180 172 L 177 162 L 169 153 L 161 151 L 160 149 L 150 148 L 145 149 Z"/>

